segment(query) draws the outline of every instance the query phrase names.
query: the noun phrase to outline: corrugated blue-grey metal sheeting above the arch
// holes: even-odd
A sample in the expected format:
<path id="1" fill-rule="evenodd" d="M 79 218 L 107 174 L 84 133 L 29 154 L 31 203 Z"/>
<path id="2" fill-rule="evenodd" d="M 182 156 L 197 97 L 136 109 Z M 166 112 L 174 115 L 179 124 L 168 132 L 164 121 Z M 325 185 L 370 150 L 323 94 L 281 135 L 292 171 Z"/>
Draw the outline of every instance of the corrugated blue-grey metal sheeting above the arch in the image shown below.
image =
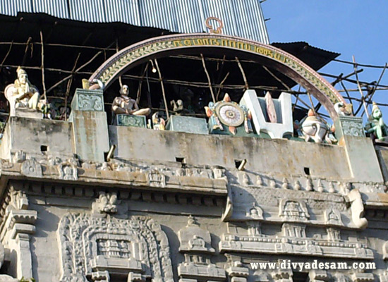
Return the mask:
<path id="1" fill-rule="evenodd" d="M 223 21 L 224 34 L 269 44 L 259 0 L 0 0 L 0 14 L 18 12 L 181 33 L 207 32 L 205 19 L 214 16 Z"/>

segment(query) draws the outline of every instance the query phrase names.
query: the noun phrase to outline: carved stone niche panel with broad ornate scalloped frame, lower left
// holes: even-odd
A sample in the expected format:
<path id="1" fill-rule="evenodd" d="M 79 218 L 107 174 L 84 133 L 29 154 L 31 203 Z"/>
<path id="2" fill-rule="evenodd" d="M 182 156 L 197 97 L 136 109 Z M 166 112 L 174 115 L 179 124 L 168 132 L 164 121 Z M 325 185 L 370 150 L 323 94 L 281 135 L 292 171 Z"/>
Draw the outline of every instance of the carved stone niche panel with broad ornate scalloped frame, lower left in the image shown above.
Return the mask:
<path id="1" fill-rule="evenodd" d="M 104 281 L 111 276 L 173 281 L 166 235 L 159 224 L 145 216 L 124 220 L 67 214 L 57 235 L 60 281 L 86 282 L 86 276 L 95 280 L 103 277 Z"/>

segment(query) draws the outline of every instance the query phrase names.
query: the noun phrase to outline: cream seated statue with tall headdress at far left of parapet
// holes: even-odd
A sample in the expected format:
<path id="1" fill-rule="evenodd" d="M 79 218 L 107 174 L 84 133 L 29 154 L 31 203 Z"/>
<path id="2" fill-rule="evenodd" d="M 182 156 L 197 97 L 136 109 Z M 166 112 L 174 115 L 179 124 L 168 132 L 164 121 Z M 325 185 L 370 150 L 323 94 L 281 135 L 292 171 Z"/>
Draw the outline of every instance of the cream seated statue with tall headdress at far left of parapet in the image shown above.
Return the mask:
<path id="1" fill-rule="evenodd" d="M 39 91 L 37 87 L 28 80 L 28 75 L 23 68 L 16 70 L 18 78 L 4 90 L 4 94 L 9 101 L 11 116 L 15 115 L 16 108 L 37 109 L 39 102 Z"/>

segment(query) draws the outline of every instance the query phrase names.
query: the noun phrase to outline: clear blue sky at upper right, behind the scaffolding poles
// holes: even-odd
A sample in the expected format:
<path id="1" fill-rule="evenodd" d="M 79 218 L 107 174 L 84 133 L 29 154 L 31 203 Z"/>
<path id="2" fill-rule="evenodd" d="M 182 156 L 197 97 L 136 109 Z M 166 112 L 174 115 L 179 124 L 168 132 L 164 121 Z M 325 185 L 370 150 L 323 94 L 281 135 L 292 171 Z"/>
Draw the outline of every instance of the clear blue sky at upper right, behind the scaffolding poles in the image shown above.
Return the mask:
<path id="1" fill-rule="evenodd" d="M 344 61 L 355 56 L 357 63 L 388 63 L 387 0 L 267 0 L 262 9 L 265 18 L 270 18 L 266 22 L 270 42 L 303 41 L 340 53 L 337 59 Z M 382 72 L 381 68 L 359 68 L 364 69 L 359 79 L 367 82 L 378 80 Z M 353 72 L 353 66 L 331 62 L 320 72 L 347 75 Z M 388 69 L 380 84 L 388 85 Z M 340 85 L 336 88 L 341 90 Z M 360 98 L 359 92 L 353 95 Z M 374 97 L 388 104 L 388 90 L 378 91 Z M 384 120 L 388 121 L 388 106 L 385 108 Z"/>

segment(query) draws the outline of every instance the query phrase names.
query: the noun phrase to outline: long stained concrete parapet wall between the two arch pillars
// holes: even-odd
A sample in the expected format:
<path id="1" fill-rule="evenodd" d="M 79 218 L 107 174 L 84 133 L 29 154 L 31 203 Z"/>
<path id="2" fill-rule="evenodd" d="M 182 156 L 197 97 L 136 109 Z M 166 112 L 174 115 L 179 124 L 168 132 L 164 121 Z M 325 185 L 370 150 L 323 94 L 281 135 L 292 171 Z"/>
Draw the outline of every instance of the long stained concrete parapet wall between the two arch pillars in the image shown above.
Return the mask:
<path id="1" fill-rule="evenodd" d="M 235 160 L 247 159 L 247 171 L 351 180 L 344 147 L 317 145 L 290 140 L 266 140 L 222 135 L 195 135 L 143 128 L 109 126 L 111 145 L 116 144 L 115 157 L 176 161 L 187 164 L 234 168 Z M 357 176 L 355 176 L 357 177 Z"/>

